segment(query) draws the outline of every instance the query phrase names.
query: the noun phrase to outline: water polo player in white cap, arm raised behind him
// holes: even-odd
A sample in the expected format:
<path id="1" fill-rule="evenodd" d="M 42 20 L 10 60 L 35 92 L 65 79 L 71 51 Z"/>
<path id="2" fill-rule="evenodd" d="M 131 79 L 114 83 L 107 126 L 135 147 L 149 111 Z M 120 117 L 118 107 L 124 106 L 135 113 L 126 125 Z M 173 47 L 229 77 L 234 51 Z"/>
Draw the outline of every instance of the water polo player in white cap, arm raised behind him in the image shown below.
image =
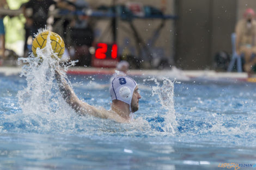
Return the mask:
<path id="1" fill-rule="evenodd" d="M 80 115 L 89 114 L 120 123 L 129 123 L 133 119 L 133 112 L 139 109 L 141 95 L 137 83 L 130 77 L 119 76 L 112 80 L 109 87 L 112 99 L 111 110 L 95 108 L 86 102 L 82 102 L 66 80 L 61 77 L 59 71 L 56 71 L 55 77 L 64 99 Z"/>

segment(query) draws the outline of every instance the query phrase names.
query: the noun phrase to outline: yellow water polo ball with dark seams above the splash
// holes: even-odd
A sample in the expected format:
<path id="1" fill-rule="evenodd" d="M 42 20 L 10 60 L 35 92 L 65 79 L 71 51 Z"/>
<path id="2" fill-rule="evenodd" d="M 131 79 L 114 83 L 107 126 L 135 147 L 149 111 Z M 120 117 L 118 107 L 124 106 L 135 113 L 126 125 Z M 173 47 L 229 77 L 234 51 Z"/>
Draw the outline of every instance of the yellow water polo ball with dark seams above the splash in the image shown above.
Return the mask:
<path id="1" fill-rule="evenodd" d="M 47 36 L 50 34 L 51 46 L 54 53 L 58 58 L 62 58 L 65 51 L 65 43 L 58 34 L 46 31 L 38 34 L 32 42 L 32 52 L 36 56 L 36 48 L 45 48 L 47 42 Z M 52 56 L 53 57 L 53 56 Z"/>

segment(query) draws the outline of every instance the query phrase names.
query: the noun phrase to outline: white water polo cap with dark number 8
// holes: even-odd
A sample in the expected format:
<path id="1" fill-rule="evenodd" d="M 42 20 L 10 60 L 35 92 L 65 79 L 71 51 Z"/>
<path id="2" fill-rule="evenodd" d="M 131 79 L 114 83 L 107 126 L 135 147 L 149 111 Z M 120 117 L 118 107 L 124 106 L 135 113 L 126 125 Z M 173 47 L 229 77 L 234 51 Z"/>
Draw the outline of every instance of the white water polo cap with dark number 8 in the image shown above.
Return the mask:
<path id="1" fill-rule="evenodd" d="M 131 100 L 133 91 L 137 83 L 130 77 L 119 76 L 115 77 L 110 84 L 109 91 L 112 100 L 121 100 L 130 105 L 131 110 Z"/>

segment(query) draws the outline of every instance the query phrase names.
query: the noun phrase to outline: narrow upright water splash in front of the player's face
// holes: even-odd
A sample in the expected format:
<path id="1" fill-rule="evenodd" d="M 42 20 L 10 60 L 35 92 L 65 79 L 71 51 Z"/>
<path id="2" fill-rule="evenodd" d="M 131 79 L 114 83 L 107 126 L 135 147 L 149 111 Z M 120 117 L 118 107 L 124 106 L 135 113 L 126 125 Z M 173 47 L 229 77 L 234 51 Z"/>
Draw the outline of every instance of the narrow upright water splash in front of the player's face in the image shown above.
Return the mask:
<path id="1" fill-rule="evenodd" d="M 177 126 L 175 109 L 174 109 L 174 82 L 167 78 L 163 78 L 163 84 L 160 86 L 160 83 L 155 78 L 148 80 L 153 80 L 156 86 L 153 86 L 153 96 L 157 95 L 160 100 L 162 108 L 167 110 L 164 115 L 164 131 L 168 131 L 172 134 L 175 134 L 175 128 Z"/>

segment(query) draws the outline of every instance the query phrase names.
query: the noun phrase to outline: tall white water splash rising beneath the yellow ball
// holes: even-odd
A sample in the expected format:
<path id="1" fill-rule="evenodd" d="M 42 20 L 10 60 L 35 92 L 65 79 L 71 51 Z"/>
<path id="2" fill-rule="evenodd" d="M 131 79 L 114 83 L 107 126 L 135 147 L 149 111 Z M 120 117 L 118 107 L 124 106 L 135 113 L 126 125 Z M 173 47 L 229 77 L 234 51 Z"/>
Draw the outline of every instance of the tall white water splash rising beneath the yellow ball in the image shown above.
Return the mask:
<path id="1" fill-rule="evenodd" d="M 45 31 L 41 29 L 38 34 Z M 60 60 L 52 50 L 50 34 L 46 47 L 37 48 L 36 54 L 37 56 L 31 54 L 28 58 L 19 59 L 19 62 L 25 63 L 20 76 L 26 78 L 27 87 L 17 93 L 22 113 L 16 115 L 20 120 L 14 122 L 21 124 L 20 127 L 29 127 L 31 131 L 40 133 L 54 130 L 57 133 L 72 131 L 76 122 L 66 120 L 76 119 L 77 115 L 64 102 L 58 85 L 54 83 L 54 71 L 60 70 Z M 71 65 L 74 65 L 74 62 L 71 62 Z M 67 69 L 68 67 L 64 67 L 64 70 Z M 65 74 L 63 76 L 66 78 Z"/>

